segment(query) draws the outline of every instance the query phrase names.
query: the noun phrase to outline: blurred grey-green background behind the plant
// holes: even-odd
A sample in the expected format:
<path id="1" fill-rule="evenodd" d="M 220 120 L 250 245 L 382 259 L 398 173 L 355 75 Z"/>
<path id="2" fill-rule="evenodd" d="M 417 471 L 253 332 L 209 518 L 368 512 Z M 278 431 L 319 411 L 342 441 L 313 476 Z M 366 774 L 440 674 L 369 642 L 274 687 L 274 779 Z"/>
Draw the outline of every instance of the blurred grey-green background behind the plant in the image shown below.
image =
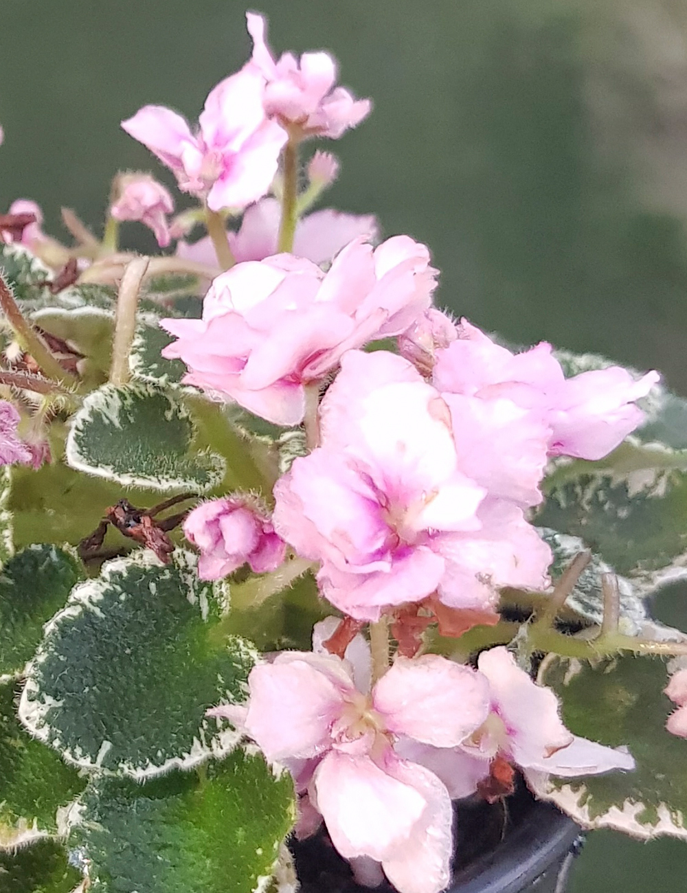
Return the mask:
<path id="1" fill-rule="evenodd" d="M 431 246 L 440 301 L 687 393 L 687 0 L 261 0 L 276 50 L 327 47 L 371 118 L 331 204 Z M 94 228 L 118 168 L 166 178 L 119 121 L 194 119 L 247 58 L 239 0 L 0 0 L 0 208 Z M 166 178 L 167 182 L 171 182 Z M 130 230 L 130 244 L 149 243 Z M 687 623 L 684 590 L 661 597 Z M 687 628 L 687 627 L 683 627 Z M 687 845 L 592 835 L 572 893 L 684 893 Z"/>

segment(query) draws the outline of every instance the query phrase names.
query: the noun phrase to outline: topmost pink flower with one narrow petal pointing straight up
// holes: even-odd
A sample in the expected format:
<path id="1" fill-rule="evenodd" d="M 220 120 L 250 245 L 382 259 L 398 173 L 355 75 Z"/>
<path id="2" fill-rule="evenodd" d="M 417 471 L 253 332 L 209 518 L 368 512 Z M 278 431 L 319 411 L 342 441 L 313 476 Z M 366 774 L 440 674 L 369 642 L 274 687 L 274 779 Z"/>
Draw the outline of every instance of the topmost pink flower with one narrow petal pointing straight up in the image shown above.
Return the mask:
<path id="1" fill-rule="evenodd" d="M 338 139 L 370 113 L 369 99 L 354 99 L 347 89 L 334 87 L 335 61 L 328 53 L 304 53 L 299 60 L 284 53 L 275 62 L 265 44 L 265 21 L 247 13 L 248 33 L 253 38 L 253 56 L 247 68 L 259 71 L 267 84 L 264 110 L 285 125 L 300 129 L 306 137 Z"/>

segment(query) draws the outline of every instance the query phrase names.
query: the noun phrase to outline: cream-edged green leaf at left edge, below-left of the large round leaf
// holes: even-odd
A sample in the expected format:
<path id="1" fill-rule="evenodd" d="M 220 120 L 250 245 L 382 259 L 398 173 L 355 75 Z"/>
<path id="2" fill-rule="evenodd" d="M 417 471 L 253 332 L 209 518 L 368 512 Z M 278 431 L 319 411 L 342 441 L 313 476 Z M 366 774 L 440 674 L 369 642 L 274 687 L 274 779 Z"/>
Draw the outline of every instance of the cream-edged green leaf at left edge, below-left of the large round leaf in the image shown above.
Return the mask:
<path id="1" fill-rule="evenodd" d="M 14 696 L 13 682 L 0 686 L 0 850 L 63 833 L 86 788 L 80 772 L 21 728 Z"/>

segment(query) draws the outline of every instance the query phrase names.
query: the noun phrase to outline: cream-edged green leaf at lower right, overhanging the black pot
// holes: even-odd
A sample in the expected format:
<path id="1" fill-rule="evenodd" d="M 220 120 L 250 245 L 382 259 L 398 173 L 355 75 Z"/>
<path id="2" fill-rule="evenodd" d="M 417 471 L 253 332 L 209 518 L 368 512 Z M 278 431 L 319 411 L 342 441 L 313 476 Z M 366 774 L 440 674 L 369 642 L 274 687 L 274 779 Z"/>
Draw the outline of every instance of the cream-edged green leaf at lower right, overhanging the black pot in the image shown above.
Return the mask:
<path id="1" fill-rule="evenodd" d="M 624 655 L 592 666 L 550 655 L 539 681 L 557 693 L 568 729 L 611 747 L 626 746 L 636 769 L 565 780 L 529 773 L 534 793 L 585 828 L 615 828 L 640 839 L 687 839 L 687 741 L 666 730 L 674 709 L 663 694 L 666 663 Z"/>

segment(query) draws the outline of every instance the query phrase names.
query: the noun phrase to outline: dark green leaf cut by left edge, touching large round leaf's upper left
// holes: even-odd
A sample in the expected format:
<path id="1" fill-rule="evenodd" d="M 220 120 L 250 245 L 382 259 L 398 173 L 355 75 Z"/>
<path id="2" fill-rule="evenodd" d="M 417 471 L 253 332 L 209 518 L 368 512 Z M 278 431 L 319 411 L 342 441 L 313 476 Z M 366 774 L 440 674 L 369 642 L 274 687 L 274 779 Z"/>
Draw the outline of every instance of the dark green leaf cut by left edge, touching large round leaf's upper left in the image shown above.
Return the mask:
<path id="1" fill-rule="evenodd" d="M 83 578 L 80 562 L 63 549 L 29 546 L 0 573 L 0 682 L 23 670 L 41 638 L 43 625 L 64 606 Z"/>

